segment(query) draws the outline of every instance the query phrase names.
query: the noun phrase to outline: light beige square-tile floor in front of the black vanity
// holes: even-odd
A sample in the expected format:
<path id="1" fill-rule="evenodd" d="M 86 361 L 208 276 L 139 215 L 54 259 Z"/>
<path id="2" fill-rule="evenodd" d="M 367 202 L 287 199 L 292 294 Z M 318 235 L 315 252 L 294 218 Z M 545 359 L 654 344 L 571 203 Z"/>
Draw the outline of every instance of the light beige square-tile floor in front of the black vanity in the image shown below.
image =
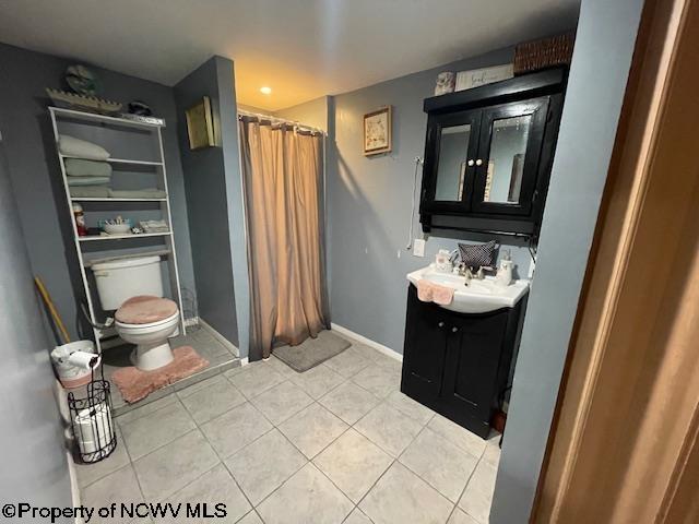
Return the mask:
<path id="1" fill-rule="evenodd" d="M 497 438 L 403 395 L 400 372 L 354 342 L 305 373 L 272 357 L 198 382 L 117 417 L 115 453 L 76 466 L 83 503 L 223 502 L 216 522 L 242 524 L 487 523 Z"/>

